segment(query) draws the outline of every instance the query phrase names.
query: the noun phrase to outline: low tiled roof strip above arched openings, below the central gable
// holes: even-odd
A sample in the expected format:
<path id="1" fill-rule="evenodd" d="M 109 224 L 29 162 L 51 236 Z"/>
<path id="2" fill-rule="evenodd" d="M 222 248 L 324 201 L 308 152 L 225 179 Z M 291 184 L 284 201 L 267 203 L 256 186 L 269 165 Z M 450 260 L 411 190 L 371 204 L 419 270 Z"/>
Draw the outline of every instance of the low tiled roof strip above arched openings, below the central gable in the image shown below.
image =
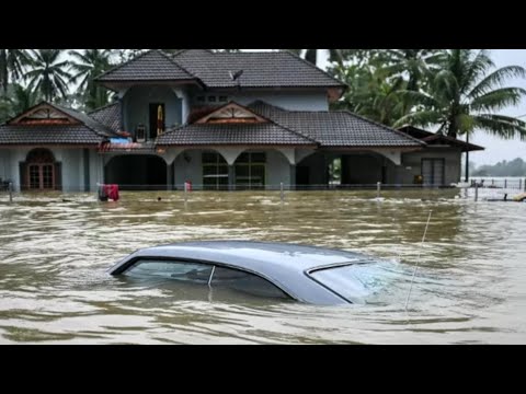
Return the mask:
<path id="1" fill-rule="evenodd" d="M 159 146 L 316 146 L 312 140 L 272 124 L 193 124 L 167 131 Z"/>

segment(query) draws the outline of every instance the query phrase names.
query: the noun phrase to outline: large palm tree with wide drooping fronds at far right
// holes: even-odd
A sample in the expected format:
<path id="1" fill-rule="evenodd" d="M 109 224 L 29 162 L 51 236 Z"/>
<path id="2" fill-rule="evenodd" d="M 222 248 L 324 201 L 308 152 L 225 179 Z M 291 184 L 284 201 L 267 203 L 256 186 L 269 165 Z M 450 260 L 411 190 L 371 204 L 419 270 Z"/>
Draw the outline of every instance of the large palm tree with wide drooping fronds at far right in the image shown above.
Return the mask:
<path id="1" fill-rule="evenodd" d="M 457 138 L 476 129 L 511 139 L 526 139 L 526 123 L 499 114 L 510 105 L 521 103 L 526 90 L 503 86 L 507 78 L 526 77 L 519 66 L 507 66 L 491 71 L 493 61 L 485 49 L 449 49 L 442 70 L 431 78 L 425 91 L 405 90 L 402 94 L 415 105 L 397 125 L 437 125 L 438 131 Z M 466 182 L 469 178 L 469 153 L 466 154 Z"/>

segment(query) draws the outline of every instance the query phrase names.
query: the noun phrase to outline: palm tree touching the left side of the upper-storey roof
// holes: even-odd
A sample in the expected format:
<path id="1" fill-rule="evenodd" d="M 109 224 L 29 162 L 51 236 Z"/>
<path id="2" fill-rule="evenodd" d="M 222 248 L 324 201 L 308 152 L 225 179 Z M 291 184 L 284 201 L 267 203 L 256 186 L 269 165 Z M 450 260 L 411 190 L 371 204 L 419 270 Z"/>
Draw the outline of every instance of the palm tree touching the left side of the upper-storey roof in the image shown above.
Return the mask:
<path id="1" fill-rule="evenodd" d="M 73 70 L 71 82 L 77 83 L 80 80 L 79 88 L 82 90 L 87 108 L 94 109 L 107 104 L 108 91 L 94 83 L 93 79 L 112 67 L 111 50 L 85 49 L 83 53 L 70 50 L 69 55 L 72 58 L 71 69 Z"/>

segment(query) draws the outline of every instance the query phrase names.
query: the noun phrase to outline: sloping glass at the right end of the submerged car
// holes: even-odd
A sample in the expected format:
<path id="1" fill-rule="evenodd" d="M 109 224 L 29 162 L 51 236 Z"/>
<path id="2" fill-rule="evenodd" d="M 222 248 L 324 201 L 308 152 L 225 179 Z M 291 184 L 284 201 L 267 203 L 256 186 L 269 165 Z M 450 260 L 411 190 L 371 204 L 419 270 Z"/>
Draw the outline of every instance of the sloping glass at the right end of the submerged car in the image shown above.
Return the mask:
<path id="1" fill-rule="evenodd" d="M 309 275 L 347 301 L 365 303 L 367 297 L 373 296 L 385 285 L 381 279 L 384 270 L 380 263 L 361 262 L 317 269 Z"/>

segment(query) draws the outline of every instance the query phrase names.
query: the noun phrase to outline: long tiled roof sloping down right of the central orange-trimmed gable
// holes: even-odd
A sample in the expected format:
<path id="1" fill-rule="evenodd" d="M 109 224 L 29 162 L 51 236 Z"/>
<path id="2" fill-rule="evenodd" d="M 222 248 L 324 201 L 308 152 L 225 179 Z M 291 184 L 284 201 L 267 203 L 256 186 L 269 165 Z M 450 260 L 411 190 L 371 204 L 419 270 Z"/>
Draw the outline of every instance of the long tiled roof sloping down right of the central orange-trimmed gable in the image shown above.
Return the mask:
<path id="1" fill-rule="evenodd" d="M 291 112 L 258 101 L 249 105 L 255 113 L 281 126 L 318 141 L 321 147 L 422 147 L 401 131 L 350 112 Z"/>

